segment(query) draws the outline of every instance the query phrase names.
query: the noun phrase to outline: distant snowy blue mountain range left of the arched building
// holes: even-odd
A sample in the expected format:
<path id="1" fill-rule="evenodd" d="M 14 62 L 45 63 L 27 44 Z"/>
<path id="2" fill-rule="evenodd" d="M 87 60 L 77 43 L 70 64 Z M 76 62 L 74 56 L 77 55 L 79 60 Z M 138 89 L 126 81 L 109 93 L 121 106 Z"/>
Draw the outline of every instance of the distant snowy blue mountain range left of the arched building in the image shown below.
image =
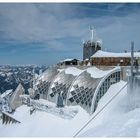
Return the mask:
<path id="1" fill-rule="evenodd" d="M 32 80 L 35 73 L 44 72 L 47 66 L 0 66 L 0 94 L 6 90 L 15 90 L 19 83 L 25 88 L 32 87 Z"/>

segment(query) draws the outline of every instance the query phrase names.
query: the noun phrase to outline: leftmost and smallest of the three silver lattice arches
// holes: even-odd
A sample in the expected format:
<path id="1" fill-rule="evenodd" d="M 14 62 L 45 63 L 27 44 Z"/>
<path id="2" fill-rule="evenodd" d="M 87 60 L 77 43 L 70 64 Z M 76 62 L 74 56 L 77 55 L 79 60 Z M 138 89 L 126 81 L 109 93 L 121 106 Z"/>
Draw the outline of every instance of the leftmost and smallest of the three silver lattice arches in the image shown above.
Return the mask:
<path id="1" fill-rule="evenodd" d="M 41 98 L 47 99 L 50 84 L 58 73 L 59 70 L 56 67 L 48 68 L 42 73 L 35 82 L 35 91 L 31 91 L 32 98 L 39 94 Z"/>

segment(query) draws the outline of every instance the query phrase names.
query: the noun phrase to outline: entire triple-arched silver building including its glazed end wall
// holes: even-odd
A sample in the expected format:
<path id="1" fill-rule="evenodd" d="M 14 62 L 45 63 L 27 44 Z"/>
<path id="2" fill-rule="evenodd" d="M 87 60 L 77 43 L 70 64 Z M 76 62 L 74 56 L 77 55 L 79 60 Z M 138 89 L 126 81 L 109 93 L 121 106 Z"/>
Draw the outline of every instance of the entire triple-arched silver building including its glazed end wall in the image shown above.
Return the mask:
<path id="1" fill-rule="evenodd" d="M 97 67 L 79 69 L 69 66 L 64 69 L 51 68 L 41 74 L 33 89 L 29 89 L 30 97 L 36 95 L 54 102 L 57 106 L 58 96 L 62 96 L 64 106 L 80 105 L 92 114 L 100 98 L 110 85 L 120 81 L 120 67 L 101 70 Z"/>

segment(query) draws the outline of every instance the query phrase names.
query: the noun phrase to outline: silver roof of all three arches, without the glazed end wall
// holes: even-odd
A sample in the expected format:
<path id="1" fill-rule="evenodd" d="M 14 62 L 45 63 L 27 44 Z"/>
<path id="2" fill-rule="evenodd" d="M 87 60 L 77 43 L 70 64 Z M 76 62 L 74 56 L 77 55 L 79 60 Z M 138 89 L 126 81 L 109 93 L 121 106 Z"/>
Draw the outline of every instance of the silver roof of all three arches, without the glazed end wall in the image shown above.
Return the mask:
<path id="1" fill-rule="evenodd" d="M 45 99 L 56 102 L 57 95 L 62 93 L 65 104 L 79 104 L 87 112 L 93 113 L 100 87 L 117 71 L 120 71 L 120 67 L 108 70 L 101 70 L 95 66 L 84 70 L 76 67 L 52 68 L 45 71 L 37 82 L 41 81 L 38 85 L 41 85 L 39 88 L 45 93 Z"/>

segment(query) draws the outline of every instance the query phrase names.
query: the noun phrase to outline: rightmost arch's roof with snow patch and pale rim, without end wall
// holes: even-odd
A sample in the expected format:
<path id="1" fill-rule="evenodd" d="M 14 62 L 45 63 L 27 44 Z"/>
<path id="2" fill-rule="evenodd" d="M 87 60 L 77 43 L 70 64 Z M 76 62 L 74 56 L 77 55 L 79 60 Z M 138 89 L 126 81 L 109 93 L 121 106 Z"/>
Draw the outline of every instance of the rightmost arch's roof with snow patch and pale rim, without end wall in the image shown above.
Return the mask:
<path id="1" fill-rule="evenodd" d="M 79 104 L 89 113 L 93 109 L 93 99 L 95 93 L 98 93 L 100 85 L 104 79 L 111 73 L 120 70 L 113 68 L 111 70 L 100 70 L 96 67 L 90 67 L 84 70 L 79 76 L 75 78 L 68 91 L 67 104 Z"/>

